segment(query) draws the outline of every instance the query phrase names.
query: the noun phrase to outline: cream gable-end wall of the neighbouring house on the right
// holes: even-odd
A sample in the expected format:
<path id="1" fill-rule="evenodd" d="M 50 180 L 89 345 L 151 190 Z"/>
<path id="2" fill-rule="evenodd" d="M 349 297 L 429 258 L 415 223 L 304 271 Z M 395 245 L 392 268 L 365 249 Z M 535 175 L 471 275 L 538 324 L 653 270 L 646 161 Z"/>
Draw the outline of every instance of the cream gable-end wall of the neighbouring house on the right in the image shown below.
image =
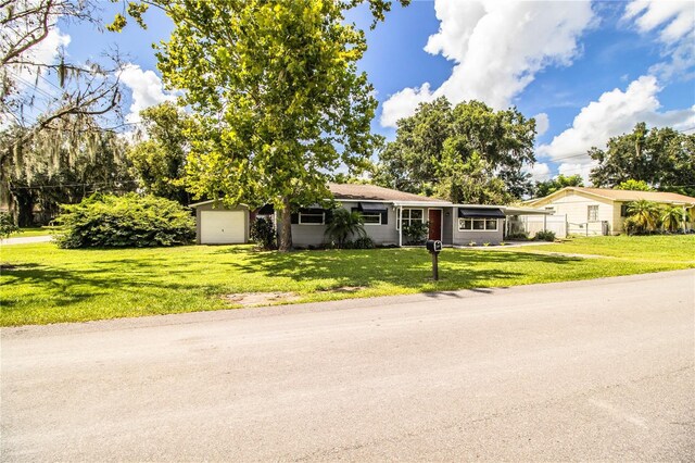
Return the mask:
<path id="1" fill-rule="evenodd" d="M 589 207 L 598 207 L 598 221 L 589 222 Z M 534 204 L 536 208 L 553 208 L 555 214 L 567 215 L 567 233 L 569 235 L 602 235 L 602 222 L 608 223 L 608 233 L 615 234 L 614 221 L 615 210 L 611 200 L 591 198 L 589 196 L 577 195 L 574 191 L 566 191 L 563 196 L 554 198 L 552 201 L 540 201 Z M 620 207 L 617 207 L 620 216 Z"/>

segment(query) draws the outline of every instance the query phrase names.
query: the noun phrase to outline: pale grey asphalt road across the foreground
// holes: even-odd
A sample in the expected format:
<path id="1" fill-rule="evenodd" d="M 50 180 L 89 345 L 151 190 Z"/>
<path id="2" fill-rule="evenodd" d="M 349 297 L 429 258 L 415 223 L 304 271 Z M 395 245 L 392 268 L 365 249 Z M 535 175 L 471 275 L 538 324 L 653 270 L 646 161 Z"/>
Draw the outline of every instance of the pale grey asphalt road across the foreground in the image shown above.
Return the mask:
<path id="1" fill-rule="evenodd" d="M 3 461 L 695 460 L 695 272 L 2 330 Z"/>

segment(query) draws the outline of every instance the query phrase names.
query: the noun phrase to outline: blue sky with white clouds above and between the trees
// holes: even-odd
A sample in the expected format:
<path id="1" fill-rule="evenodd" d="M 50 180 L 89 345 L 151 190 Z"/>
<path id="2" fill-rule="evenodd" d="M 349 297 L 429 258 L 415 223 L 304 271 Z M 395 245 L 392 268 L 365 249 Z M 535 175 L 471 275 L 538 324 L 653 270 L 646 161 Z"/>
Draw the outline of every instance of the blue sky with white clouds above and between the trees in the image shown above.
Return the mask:
<path id="1" fill-rule="evenodd" d="M 103 3 L 104 16 L 117 5 Z M 365 9 L 348 16 L 368 25 Z M 126 113 L 164 101 L 152 42 L 166 39 L 168 20 L 148 13 L 148 30 L 99 33 L 60 24 L 71 58 L 85 60 L 117 46 L 132 66 L 124 73 Z M 392 139 L 399 117 L 420 101 L 446 96 L 493 108 L 516 105 L 536 116 L 538 179 L 586 176 L 591 146 L 636 122 L 695 129 L 695 2 L 502 2 L 437 0 L 394 5 L 367 32 L 361 62 L 377 90 L 372 129 Z M 66 39 L 64 40 L 64 42 Z"/>

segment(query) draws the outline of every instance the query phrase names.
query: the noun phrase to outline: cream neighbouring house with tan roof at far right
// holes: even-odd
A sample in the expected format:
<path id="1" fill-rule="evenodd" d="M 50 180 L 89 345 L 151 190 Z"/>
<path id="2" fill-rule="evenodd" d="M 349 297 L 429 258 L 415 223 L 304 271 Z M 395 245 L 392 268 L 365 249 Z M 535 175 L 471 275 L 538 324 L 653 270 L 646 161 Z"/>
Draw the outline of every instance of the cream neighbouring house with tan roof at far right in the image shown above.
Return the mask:
<path id="1" fill-rule="evenodd" d="M 566 187 L 526 204 L 565 215 L 570 235 L 618 235 L 623 232 L 628 203 L 641 199 L 662 205 L 679 205 L 688 214 L 695 208 L 695 198 L 679 193 L 584 187 Z"/>

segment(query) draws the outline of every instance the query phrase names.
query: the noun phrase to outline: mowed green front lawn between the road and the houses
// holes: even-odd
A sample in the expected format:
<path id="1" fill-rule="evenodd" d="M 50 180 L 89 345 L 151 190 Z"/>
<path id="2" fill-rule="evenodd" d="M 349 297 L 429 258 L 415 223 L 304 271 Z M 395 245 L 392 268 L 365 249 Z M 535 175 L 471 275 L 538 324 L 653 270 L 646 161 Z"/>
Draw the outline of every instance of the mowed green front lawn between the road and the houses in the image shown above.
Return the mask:
<path id="1" fill-rule="evenodd" d="M 620 237 L 619 237 L 620 238 Z M 573 240 L 539 247 L 612 255 L 582 259 L 530 252 L 445 249 L 432 281 L 424 249 L 257 252 L 250 246 L 61 250 L 5 246 L 0 325 L 47 324 L 235 308 L 223 295 L 289 291 L 295 302 L 506 287 L 695 267 L 693 237 Z M 610 242 L 611 245 L 608 245 Z M 678 254 L 682 260 L 672 258 Z M 685 255 L 685 258 L 683 258 Z M 647 256 L 647 258 L 645 258 Z M 345 287 L 363 287 L 354 292 Z M 237 305 L 238 306 L 238 305 Z"/>

